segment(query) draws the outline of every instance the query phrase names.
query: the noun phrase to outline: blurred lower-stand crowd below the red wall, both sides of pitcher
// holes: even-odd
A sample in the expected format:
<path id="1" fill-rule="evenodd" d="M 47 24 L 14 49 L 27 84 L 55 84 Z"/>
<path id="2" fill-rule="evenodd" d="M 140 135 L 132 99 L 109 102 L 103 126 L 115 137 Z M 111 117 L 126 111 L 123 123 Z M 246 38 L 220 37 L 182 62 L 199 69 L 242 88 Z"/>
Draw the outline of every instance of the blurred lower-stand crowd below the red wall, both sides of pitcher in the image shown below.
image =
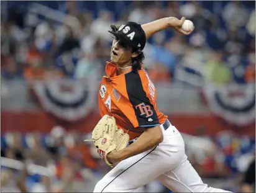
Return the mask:
<path id="1" fill-rule="evenodd" d="M 206 132 L 207 128 L 198 127 L 194 136 L 182 134 L 188 159 L 203 179 L 215 179 L 219 187 L 234 192 L 241 191 L 242 182 L 245 181 L 244 174 L 250 163 L 255 161 L 255 140 L 232 132 L 221 132 L 213 138 Z M 24 163 L 24 168 L 17 170 L 17 163 L 14 164 L 9 159 L 4 162 L 2 160 L 2 191 L 93 191 L 96 182 L 111 168 L 100 159 L 93 143 L 84 142 L 84 139 L 91 139 L 91 134 L 85 135 L 75 130 L 66 132 L 60 126 L 53 127 L 47 135 L 36 132 L 1 135 L 1 157 Z M 32 164 L 36 165 L 34 170 L 30 168 Z M 40 166 L 45 167 L 43 171 L 50 169 L 50 173 L 45 176 Z M 250 169 L 250 173 L 253 172 L 255 170 Z M 255 182 L 253 177 L 255 173 L 247 177 L 250 184 Z M 168 192 L 159 184 L 153 187 L 153 192 Z M 152 192 L 153 187 L 144 191 Z"/>

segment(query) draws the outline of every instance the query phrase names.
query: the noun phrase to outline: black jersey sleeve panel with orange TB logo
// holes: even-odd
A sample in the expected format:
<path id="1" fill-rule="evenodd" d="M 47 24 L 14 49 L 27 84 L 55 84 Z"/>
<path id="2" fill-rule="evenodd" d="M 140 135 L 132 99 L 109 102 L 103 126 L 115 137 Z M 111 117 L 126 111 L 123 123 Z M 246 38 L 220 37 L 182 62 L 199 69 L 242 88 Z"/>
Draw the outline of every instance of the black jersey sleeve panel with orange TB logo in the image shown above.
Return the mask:
<path id="1" fill-rule="evenodd" d="M 135 71 L 131 71 L 125 76 L 127 95 L 135 113 L 135 117 L 130 118 L 134 128 L 160 125 L 154 104 L 143 87 L 142 81 L 147 81 L 147 79 L 141 78 L 140 74 Z"/>

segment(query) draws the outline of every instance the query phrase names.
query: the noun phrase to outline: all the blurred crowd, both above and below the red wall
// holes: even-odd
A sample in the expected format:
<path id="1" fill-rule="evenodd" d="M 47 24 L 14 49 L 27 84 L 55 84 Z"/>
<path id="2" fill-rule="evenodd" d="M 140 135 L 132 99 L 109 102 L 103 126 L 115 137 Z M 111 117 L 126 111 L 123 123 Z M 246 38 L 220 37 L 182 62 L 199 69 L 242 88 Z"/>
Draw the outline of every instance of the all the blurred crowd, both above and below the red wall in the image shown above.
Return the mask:
<path id="1" fill-rule="evenodd" d="M 255 81 L 254 1 L 1 1 L 1 80 L 101 78 L 112 43 L 110 24 L 169 16 L 185 16 L 195 30 L 184 36 L 168 29 L 149 39 L 145 68 L 153 82 L 185 81 L 186 73 L 221 84 Z M 255 163 L 255 140 L 197 131 L 183 137 L 201 176 L 224 177 L 228 182 L 217 186 L 236 192 L 253 184 L 244 174 Z M 2 192 L 93 191 L 109 167 L 93 143 L 83 142 L 90 138 L 85 134 L 56 126 L 47 135 L 1 135 L 1 156 L 25 166 L 11 169 L 8 161 L 1 166 Z M 32 164 L 53 175 L 32 173 Z M 145 189 L 169 192 L 156 184 Z"/>

